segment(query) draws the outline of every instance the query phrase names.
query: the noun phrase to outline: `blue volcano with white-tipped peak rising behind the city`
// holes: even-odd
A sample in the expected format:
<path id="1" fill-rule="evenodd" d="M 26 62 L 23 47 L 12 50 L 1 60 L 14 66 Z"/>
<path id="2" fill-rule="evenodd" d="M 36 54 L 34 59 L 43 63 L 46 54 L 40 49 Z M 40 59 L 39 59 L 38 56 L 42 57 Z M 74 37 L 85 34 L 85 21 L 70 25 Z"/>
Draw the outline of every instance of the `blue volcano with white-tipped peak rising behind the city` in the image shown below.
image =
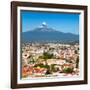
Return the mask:
<path id="1" fill-rule="evenodd" d="M 72 33 L 64 33 L 49 28 L 46 23 L 42 23 L 40 27 L 21 33 L 22 42 L 78 42 L 79 35 Z"/>

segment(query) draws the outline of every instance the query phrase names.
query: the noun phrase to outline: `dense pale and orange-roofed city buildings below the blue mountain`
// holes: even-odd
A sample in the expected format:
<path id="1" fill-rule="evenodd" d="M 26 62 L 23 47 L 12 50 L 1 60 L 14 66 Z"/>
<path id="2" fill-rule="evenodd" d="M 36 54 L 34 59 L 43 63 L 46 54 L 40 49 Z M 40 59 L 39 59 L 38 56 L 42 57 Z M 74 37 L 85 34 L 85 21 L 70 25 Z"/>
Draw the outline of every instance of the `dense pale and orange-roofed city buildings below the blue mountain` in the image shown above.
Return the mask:
<path id="1" fill-rule="evenodd" d="M 53 55 L 51 58 L 43 58 L 43 54 Z M 79 45 L 60 43 L 25 43 L 22 44 L 22 76 L 42 76 L 47 68 L 35 65 L 55 65 L 58 74 L 67 74 L 67 68 L 73 69 L 71 74 L 79 75 Z M 50 69 L 50 68 L 49 68 Z M 66 71 L 65 71 L 66 70 Z M 54 75 L 56 72 L 50 73 Z"/>

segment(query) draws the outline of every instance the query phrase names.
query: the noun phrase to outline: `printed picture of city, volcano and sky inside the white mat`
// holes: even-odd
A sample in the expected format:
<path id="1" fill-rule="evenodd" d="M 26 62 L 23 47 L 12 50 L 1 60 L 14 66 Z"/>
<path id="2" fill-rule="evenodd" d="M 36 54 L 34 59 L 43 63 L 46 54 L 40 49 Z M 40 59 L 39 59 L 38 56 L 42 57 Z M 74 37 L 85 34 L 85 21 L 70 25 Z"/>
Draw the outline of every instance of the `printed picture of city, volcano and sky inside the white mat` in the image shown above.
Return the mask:
<path id="1" fill-rule="evenodd" d="M 79 13 L 21 11 L 21 78 L 80 76 Z"/>

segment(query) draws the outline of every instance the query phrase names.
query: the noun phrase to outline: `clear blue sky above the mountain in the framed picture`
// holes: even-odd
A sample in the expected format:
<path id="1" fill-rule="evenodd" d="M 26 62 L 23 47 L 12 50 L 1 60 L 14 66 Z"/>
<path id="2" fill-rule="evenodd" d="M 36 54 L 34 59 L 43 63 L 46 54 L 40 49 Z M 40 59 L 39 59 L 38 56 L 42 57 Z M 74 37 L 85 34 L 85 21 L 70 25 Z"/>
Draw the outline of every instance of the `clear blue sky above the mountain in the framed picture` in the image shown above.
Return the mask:
<path id="1" fill-rule="evenodd" d="M 21 11 L 22 32 L 33 30 L 46 22 L 48 27 L 61 32 L 78 34 L 79 14 Z"/>

